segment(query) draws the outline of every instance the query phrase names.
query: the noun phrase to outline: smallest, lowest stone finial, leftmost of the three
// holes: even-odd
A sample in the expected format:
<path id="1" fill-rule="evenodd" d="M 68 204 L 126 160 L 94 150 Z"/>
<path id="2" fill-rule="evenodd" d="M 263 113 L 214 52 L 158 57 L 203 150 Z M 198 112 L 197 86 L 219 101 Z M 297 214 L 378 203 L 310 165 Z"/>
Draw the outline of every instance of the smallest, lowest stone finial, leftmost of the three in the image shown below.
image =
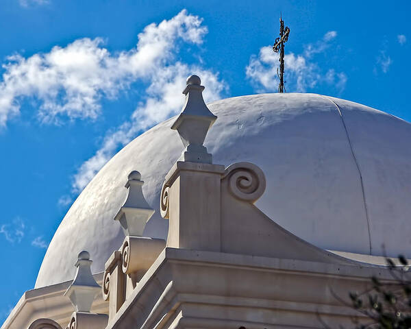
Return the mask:
<path id="1" fill-rule="evenodd" d="M 101 287 L 92 276 L 91 263 L 88 252 L 79 253 L 75 263 L 77 267 L 75 278 L 64 293 L 70 298 L 76 312 L 90 312 L 95 295 L 101 291 Z"/>

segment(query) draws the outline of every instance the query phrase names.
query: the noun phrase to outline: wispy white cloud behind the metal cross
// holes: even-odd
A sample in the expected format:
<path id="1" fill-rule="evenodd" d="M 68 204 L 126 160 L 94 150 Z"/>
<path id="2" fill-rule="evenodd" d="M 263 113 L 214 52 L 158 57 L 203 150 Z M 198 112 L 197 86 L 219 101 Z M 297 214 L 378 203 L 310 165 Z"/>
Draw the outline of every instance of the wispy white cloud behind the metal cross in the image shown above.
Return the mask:
<path id="1" fill-rule="evenodd" d="M 314 55 L 323 53 L 331 46 L 330 41 L 336 38 L 337 32 L 327 32 L 321 40 L 315 44 L 305 47 L 303 53 L 286 53 L 285 78 L 288 91 L 304 93 L 313 89 L 319 84 L 334 86 L 340 94 L 347 83 L 347 75 L 343 72 L 336 72 L 329 69 L 323 72 L 321 66 L 312 60 Z M 255 84 L 256 90 L 260 93 L 267 91 L 277 91 L 278 77 L 278 53 L 274 53 L 271 46 L 262 47 L 258 56 L 251 56 L 249 65 L 246 67 L 246 75 Z"/>

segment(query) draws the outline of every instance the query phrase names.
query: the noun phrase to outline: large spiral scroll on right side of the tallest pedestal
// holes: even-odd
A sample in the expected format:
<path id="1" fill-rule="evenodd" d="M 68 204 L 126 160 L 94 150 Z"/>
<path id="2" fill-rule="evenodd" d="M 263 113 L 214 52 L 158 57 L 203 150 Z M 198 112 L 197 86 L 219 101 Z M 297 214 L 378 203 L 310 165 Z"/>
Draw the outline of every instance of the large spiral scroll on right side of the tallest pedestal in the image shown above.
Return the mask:
<path id="1" fill-rule="evenodd" d="M 252 204 L 266 188 L 264 173 L 256 164 L 249 162 L 238 162 L 227 167 L 223 180 L 227 180 L 229 193 Z"/>

